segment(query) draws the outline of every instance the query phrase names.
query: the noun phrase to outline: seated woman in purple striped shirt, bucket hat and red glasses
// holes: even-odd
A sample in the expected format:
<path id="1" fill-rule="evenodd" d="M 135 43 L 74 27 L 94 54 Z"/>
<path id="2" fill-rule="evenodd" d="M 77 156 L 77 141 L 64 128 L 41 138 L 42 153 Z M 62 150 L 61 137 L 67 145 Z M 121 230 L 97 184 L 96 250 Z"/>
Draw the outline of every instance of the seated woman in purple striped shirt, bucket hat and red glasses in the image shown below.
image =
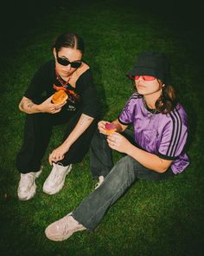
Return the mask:
<path id="1" fill-rule="evenodd" d="M 135 82 L 136 93 L 112 121 L 115 132 L 107 135 L 109 122 L 99 121 L 92 139 L 91 170 L 93 178 L 99 179 L 98 187 L 72 213 L 47 227 L 50 240 L 66 240 L 74 232 L 94 229 L 135 181 L 169 179 L 188 167 L 187 115 L 170 85 L 166 57 L 144 52 L 127 76 Z M 126 129 L 130 125 L 132 132 Z M 125 154 L 115 165 L 112 149 Z"/>

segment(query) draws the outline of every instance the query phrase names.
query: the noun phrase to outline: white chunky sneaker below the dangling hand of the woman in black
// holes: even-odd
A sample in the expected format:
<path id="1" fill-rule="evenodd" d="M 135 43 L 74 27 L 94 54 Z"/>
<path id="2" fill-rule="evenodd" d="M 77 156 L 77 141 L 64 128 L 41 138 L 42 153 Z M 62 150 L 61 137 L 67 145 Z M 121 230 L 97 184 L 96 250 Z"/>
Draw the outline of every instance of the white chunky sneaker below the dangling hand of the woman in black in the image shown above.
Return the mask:
<path id="1" fill-rule="evenodd" d="M 43 192 L 46 194 L 56 194 L 64 186 L 66 175 L 71 171 L 72 165 L 64 167 L 61 164 L 53 163 L 51 173 L 43 185 Z"/>

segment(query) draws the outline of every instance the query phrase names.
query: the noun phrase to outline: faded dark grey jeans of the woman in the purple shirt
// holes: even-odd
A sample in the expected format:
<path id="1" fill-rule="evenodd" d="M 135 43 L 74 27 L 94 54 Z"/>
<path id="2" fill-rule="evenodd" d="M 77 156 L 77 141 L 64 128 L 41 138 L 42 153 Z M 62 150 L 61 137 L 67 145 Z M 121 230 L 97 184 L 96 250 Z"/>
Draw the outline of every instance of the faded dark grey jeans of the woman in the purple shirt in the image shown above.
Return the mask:
<path id="1" fill-rule="evenodd" d="M 94 164 L 94 170 L 97 170 L 98 172 L 97 164 L 99 164 L 99 167 L 102 167 L 101 170 L 107 170 L 108 167 L 111 166 L 112 154 L 107 143 L 105 146 L 105 136 L 99 135 L 98 132 L 94 135 L 94 138 L 96 139 L 95 136 L 98 138 L 99 147 L 92 148 L 92 150 L 95 150 L 95 154 L 91 154 L 91 165 Z M 104 143 L 103 147 L 101 147 L 101 143 Z M 106 148 L 108 150 L 105 150 L 105 147 L 108 147 Z M 107 154 L 107 152 L 109 153 Z M 97 158 L 94 159 L 96 155 Z M 108 165 L 105 163 L 103 167 L 104 160 L 108 161 Z M 107 209 L 111 207 L 135 181 L 139 179 L 159 181 L 168 179 L 173 175 L 174 174 L 170 168 L 165 173 L 159 174 L 143 167 L 143 165 L 131 156 L 126 155 L 112 167 L 108 174 L 105 175 L 105 181 L 100 187 L 89 194 L 86 199 L 80 203 L 80 206 L 73 211 L 73 218 L 79 221 L 83 226 L 86 226 L 88 230 L 92 230 L 98 226 Z"/>

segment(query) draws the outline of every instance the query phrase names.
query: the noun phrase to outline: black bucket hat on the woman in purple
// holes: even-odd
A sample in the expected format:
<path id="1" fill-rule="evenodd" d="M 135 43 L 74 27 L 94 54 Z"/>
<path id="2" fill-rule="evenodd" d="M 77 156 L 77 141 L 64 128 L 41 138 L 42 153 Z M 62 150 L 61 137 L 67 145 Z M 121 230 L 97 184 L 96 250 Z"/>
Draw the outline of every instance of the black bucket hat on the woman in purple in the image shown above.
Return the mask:
<path id="1" fill-rule="evenodd" d="M 131 79 L 134 79 L 136 75 L 155 76 L 166 85 L 171 82 L 170 67 L 166 56 L 154 51 L 146 51 L 138 56 L 135 67 L 127 73 Z"/>

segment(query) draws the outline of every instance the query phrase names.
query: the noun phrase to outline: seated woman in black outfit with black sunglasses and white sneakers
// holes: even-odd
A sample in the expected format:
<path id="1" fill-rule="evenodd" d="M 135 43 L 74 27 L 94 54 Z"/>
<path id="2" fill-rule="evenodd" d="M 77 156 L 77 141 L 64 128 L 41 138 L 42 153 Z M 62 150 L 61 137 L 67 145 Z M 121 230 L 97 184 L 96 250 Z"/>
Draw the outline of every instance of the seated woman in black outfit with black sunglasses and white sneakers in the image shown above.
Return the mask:
<path id="1" fill-rule="evenodd" d="M 37 70 L 22 96 L 19 108 L 27 117 L 22 148 L 16 157 L 21 173 L 20 200 L 29 200 L 35 195 L 35 178 L 41 174 L 41 159 L 54 125 L 67 123 L 67 130 L 59 147 L 49 154 L 53 168 L 43 185 L 45 193 L 55 194 L 61 190 L 72 164 L 80 162 L 89 148 L 99 107 L 92 73 L 82 61 L 83 54 L 80 36 L 74 33 L 59 36 L 53 47 L 54 60 Z M 54 104 L 52 97 L 60 89 L 66 91 L 67 101 Z"/>

